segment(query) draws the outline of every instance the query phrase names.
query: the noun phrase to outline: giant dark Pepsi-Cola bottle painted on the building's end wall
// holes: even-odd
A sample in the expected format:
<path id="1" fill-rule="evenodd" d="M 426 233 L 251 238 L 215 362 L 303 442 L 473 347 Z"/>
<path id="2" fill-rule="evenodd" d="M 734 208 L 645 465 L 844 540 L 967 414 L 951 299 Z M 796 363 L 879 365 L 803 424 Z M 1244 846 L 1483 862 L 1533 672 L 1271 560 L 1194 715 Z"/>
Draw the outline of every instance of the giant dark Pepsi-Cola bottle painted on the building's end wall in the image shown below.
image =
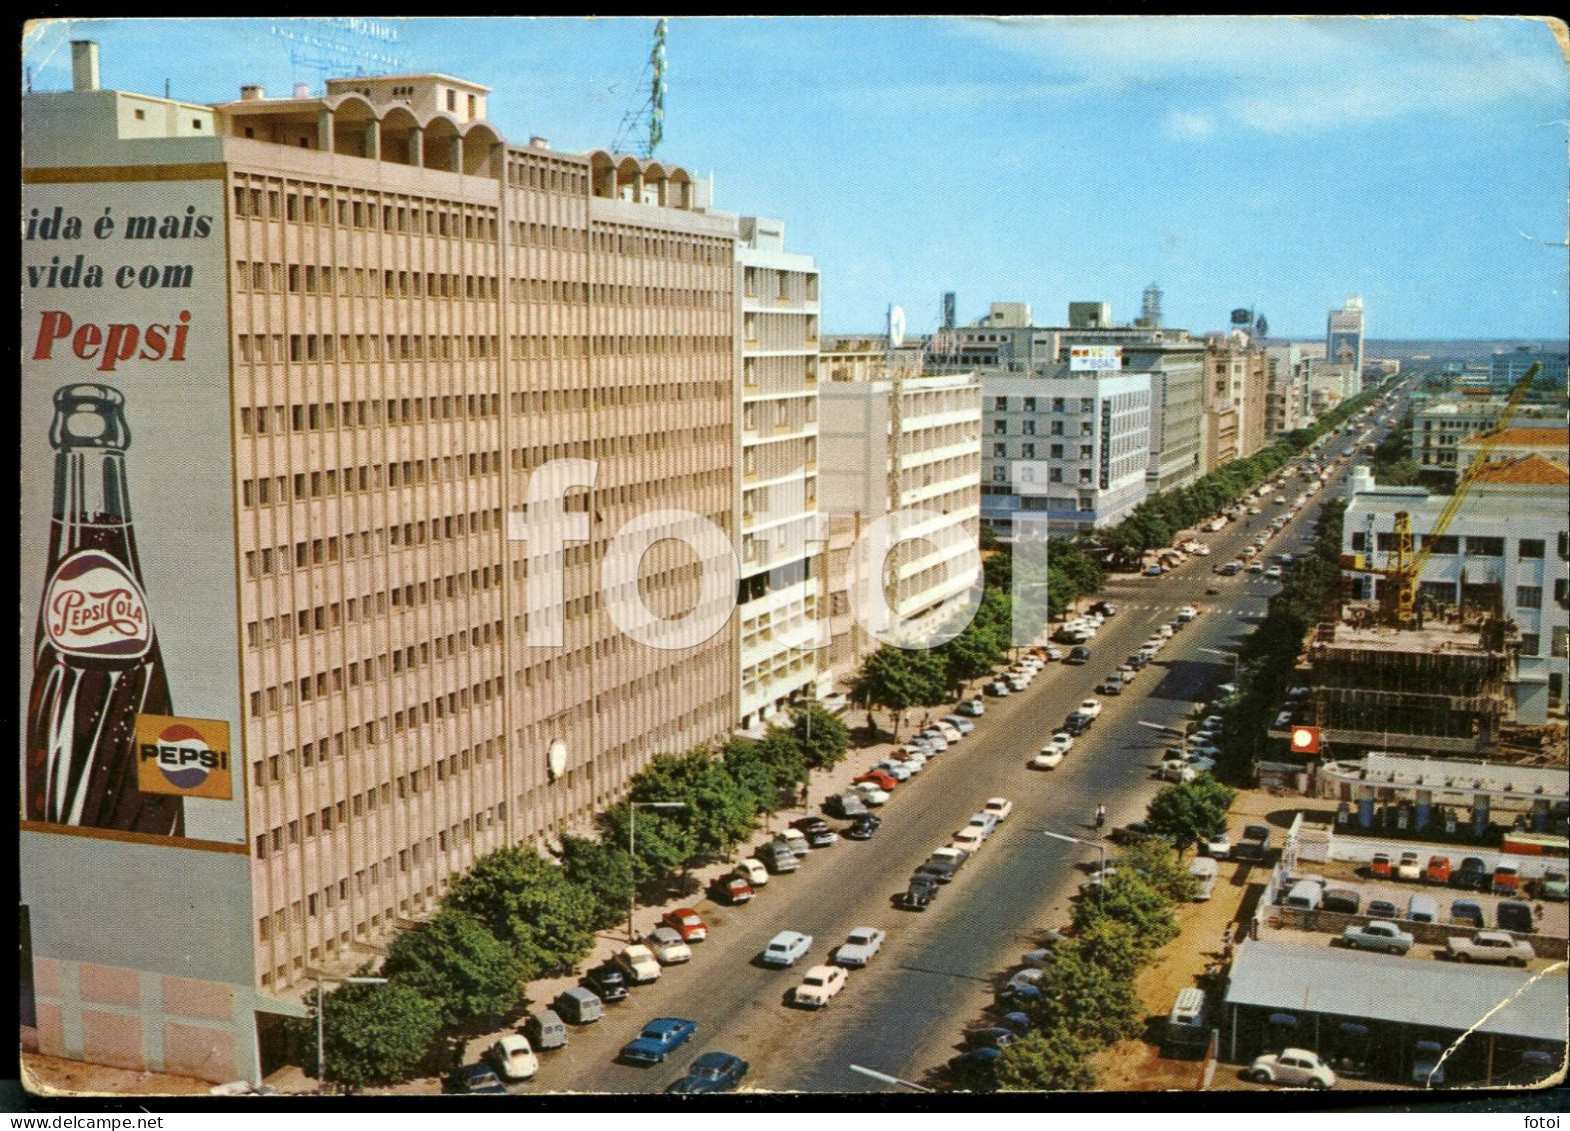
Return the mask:
<path id="1" fill-rule="evenodd" d="M 33 646 L 25 815 L 184 836 L 184 800 L 137 784 L 137 716 L 173 715 L 137 559 L 126 397 L 55 391 L 55 504 Z"/>

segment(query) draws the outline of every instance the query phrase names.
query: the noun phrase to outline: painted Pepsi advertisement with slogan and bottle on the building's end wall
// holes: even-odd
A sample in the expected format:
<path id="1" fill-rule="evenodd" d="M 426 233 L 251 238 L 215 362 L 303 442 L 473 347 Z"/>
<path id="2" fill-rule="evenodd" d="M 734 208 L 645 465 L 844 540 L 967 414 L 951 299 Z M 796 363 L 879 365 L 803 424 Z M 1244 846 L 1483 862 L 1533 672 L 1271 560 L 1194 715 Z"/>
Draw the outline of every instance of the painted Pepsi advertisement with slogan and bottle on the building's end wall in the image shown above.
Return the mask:
<path id="1" fill-rule="evenodd" d="M 221 193 L 24 190 L 28 828 L 245 842 Z"/>

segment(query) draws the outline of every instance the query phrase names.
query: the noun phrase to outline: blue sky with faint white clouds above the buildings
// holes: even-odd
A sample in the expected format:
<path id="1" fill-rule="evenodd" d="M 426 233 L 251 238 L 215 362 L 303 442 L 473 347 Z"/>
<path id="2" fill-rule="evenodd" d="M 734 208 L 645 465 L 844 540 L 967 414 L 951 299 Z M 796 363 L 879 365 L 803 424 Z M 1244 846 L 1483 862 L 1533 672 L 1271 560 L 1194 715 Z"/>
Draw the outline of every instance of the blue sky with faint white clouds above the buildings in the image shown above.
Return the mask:
<path id="1" fill-rule="evenodd" d="M 311 24 L 49 22 L 24 63 L 35 90 L 64 90 L 68 41 L 94 38 L 105 86 L 319 91 L 352 71 L 279 35 L 314 31 L 484 83 L 509 140 L 581 152 L 642 104 L 653 31 Z M 1071 300 L 1132 319 L 1151 281 L 1195 331 L 1256 306 L 1273 336 L 1320 338 L 1361 294 L 1371 338 L 1570 333 L 1570 93 L 1540 20 L 675 19 L 667 58 L 659 157 L 713 173 L 719 209 L 785 218 L 831 333 L 879 328 L 889 303 L 929 331 L 944 291 L 962 320 L 994 300 L 1049 325 Z"/>

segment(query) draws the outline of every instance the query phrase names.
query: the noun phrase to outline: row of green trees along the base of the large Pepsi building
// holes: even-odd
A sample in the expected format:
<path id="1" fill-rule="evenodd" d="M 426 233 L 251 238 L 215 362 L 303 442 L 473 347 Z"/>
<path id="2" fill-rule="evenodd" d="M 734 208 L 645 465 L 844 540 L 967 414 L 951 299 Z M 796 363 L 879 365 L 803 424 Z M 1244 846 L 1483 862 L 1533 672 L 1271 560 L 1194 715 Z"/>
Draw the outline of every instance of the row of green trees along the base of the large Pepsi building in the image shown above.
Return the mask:
<path id="1" fill-rule="evenodd" d="M 816 704 L 760 740 L 732 738 L 714 754 L 663 754 L 633 778 L 628 798 L 598 817 L 598 837 L 562 836 L 548 859 L 509 845 L 452 881 L 440 911 L 319 1002 L 295 1032 L 301 1062 L 317 1062 L 316 1012 L 323 1010 L 327 1065 L 349 1090 L 407 1079 L 462 1056 L 469 1037 L 528 1007 L 531 980 L 575 968 L 595 933 L 620 922 L 636 891 L 663 897 L 686 872 L 752 836 L 760 817 L 794 804 L 812 770 L 845 757 L 845 724 Z M 633 801 L 677 801 L 680 809 L 637 814 Z"/>

